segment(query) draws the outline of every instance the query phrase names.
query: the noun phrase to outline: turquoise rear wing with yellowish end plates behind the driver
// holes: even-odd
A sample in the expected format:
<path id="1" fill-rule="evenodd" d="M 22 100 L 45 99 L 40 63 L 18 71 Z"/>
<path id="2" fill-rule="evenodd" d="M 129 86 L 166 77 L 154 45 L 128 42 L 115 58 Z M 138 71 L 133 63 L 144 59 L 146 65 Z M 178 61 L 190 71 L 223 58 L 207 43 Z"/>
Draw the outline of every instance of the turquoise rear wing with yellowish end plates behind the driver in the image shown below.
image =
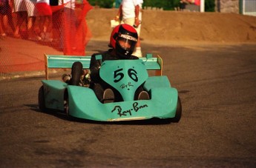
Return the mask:
<path id="1" fill-rule="evenodd" d="M 153 58 L 152 54 L 146 54 L 145 57 L 140 59 L 145 63 L 147 70 L 155 70 L 155 75 L 162 75 L 163 60 L 160 56 Z M 49 78 L 49 69 L 71 69 L 72 64 L 76 61 L 80 61 L 84 69 L 89 69 L 91 56 L 57 56 L 45 54 L 45 78 Z"/>

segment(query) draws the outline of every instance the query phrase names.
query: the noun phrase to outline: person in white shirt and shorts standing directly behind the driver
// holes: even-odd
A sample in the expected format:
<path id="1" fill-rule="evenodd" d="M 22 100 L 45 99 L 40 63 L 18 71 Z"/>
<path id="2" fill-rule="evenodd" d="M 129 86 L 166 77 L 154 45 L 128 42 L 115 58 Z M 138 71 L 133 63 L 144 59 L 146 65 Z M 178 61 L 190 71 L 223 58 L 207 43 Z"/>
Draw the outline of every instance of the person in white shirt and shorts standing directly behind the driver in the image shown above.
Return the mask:
<path id="1" fill-rule="evenodd" d="M 140 47 L 140 28 L 142 21 L 142 4 L 143 0 L 122 0 L 119 6 L 119 11 L 116 14 L 115 20 L 121 20 L 121 24 L 129 24 L 133 26 L 139 35 L 136 48 L 133 55 L 142 57 Z"/>

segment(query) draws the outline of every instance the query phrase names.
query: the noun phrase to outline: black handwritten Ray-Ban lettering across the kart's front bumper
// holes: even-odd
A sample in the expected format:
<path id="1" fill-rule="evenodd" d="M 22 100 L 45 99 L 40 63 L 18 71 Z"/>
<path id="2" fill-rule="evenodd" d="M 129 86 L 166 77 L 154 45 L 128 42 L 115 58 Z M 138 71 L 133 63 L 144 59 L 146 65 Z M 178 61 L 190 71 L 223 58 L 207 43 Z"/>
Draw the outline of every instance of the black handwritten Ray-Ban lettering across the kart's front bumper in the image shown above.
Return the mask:
<path id="1" fill-rule="evenodd" d="M 148 107 L 147 104 L 142 104 L 139 105 L 138 102 L 134 102 L 134 104 L 132 104 L 132 108 L 129 110 L 122 110 L 122 107 L 120 106 L 115 106 L 113 110 L 111 110 L 111 112 L 117 112 L 117 114 L 122 117 L 123 115 L 132 115 L 132 112 L 138 112 L 141 109 L 144 109 Z"/>

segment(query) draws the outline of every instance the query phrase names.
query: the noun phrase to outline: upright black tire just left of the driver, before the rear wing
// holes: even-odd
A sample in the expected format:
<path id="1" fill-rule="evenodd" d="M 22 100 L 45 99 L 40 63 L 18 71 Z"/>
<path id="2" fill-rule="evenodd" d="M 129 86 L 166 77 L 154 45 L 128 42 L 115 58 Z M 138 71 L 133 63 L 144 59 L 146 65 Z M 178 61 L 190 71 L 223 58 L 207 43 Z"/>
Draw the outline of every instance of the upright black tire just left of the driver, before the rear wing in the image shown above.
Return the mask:
<path id="1" fill-rule="evenodd" d="M 79 86 L 79 81 L 82 76 L 82 63 L 77 61 L 74 62 L 72 65 L 72 70 L 71 70 L 71 80 L 70 84 Z"/>

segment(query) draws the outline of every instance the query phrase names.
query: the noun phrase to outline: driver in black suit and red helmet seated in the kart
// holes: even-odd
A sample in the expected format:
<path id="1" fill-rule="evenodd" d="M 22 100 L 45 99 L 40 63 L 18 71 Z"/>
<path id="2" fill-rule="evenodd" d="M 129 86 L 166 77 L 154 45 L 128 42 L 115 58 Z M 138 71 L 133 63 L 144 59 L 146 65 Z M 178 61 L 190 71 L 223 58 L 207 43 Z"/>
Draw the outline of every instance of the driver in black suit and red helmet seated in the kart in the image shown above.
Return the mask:
<path id="1" fill-rule="evenodd" d="M 118 60 L 118 59 L 139 59 L 137 56 L 132 56 L 134 48 L 138 41 L 137 31 L 129 24 L 119 24 L 114 27 L 111 33 L 110 43 L 108 47 L 111 47 L 108 51 L 103 53 L 94 53 L 91 56 L 90 71 L 91 71 L 91 84 L 96 97 L 102 103 L 109 103 L 114 101 L 122 101 L 122 96 L 114 87 L 111 87 L 99 76 L 99 69 L 101 64 L 105 60 Z M 97 55 L 102 55 L 101 60 L 96 60 Z M 81 62 L 75 62 L 73 66 L 78 64 L 82 67 Z M 73 70 L 73 68 L 72 68 Z M 82 75 L 82 70 L 81 70 Z M 72 73 L 71 73 L 72 76 Z M 72 78 L 70 79 L 72 81 Z M 79 84 L 76 84 L 79 85 Z M 148 100 L 149 95 L 141 87 L 135 93 L 134 99 L 136 100 Z"/>

